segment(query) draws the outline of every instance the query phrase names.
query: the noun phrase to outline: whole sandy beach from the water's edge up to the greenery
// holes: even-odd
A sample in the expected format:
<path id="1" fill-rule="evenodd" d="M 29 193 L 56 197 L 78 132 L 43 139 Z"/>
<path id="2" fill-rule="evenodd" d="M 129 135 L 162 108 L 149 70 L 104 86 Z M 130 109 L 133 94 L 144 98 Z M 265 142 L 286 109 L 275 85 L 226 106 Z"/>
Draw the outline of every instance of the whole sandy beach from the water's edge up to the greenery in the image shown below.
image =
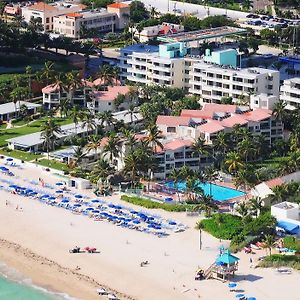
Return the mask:
<path id="1" fill-rule="evenodd" d="M 0 178 L 23 185 L 24 178 L 38 180 L 41 177 L 49 183 L 59 181 L 35 165 L 26 164 L 23 170 L 13 171 L 19 178 L 3 174 Z M 91 192 L 86 194 L 92 196 Z M 114 195 L 104 199 L 121 203 L 119 198 Z M 22 207 L 22 211 L 16 210 L 17 206 Z M 198 232 L 194 229 L 197 217 L 157 213 L 178 220 L 189 229 L 158 238 L 0 190 L 0 261 L 16 268 L 37 285 L 78 299 L 101 299 L 96 295 L 96 288 L 100 286 L 115 292 L 120 299 L 235 299 L 226 283 L 194 280 L 197 268 L 210 266 L 220 245 L 226 246 L 228 242 L 203 233 L 203 249 L 199 250 Z M 69 249 L 75 245 L 94 246 L 100 253 L 70 254 Z M 264 250 L 251 255 L 254 263 L 262 255 L 265 255 Z M 288 290 L 289 300 L 300 299 L 296 293 L 299 272 L 279 275 L 273 269 L 254 269 L 250 267 L 250 256 L 244 253 L 237 256 L 241 260 L 235 281 L 247 296 L 286 299 Z M 140 262 L 145 260 L 149 264 L 141 267 Z M 76 271 L 77 266 L 80 270 Z"/>

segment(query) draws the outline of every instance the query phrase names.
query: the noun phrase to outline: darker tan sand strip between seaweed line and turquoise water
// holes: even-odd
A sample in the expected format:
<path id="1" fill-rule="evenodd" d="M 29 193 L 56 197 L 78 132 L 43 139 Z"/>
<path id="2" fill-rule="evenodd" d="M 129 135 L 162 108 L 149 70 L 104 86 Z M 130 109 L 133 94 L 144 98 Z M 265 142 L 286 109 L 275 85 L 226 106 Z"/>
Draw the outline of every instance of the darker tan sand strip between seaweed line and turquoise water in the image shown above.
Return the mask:
<path id="1" fill-rule="evenodd" d="M 96 289 L 104 287 L 119 299 L 134 300 L 123 293 L 100 284 L 95 279 L 24 248 L 19 244 L 0 238 L 0 261 L 20 272 L 33 286 L 45 289 L 57 296 L 69 296 L 77 300 L 106 299 L 97 295 Z M 42 274 L 42 276 L 41 276 Z M 10 278 L 8 278 L 10 279 Z"/>

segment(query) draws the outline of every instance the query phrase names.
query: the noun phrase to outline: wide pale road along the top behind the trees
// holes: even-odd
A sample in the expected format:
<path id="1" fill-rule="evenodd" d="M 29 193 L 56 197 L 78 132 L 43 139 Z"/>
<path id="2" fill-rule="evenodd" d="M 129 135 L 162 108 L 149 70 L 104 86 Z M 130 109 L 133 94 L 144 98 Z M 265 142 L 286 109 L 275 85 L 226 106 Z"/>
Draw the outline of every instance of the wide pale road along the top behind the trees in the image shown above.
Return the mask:
<path id="1" fill-rule="evenodd" d="M 128 2 L 131 1 L 127 1 L 126 3 Z M 161 13 L 167 13 L 168 11 L 173 12 L 173 10 L 176 9 L 177 12 L 180 11 L 181 13 L 190 13 L 195 15 L 198 18 L 205 18 L 208 15 L 210 16 L 227 15 L 232 19 L 240 19 L 240 18 L 244 19 L 249 14 L 241 11 L 229 10 L 224 8 L 216 8 L 216 7 L 208 8 L 203 5 L 183 3 L 178 1 L 169 1 L 169 0 L 159 0 L 159 1 L 143 0 L 143 3 L 147 8 L 149 8 L 150 6 L 155 7 Z"/>

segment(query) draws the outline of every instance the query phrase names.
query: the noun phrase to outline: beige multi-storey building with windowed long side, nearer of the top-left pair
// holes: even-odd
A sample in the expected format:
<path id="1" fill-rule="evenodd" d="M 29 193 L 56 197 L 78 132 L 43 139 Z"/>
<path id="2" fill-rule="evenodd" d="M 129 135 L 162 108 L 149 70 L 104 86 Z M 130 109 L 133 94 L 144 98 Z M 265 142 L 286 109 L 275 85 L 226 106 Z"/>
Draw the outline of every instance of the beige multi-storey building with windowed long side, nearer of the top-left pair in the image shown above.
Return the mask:
<path id="1" fill-rule="evenodd" d="M 79 38 L 81 29 L 98 32 L 114 31 L 117 15 L 106 9 L 68 13 L 53 18 L 53 31 L 71 38 Z"/>

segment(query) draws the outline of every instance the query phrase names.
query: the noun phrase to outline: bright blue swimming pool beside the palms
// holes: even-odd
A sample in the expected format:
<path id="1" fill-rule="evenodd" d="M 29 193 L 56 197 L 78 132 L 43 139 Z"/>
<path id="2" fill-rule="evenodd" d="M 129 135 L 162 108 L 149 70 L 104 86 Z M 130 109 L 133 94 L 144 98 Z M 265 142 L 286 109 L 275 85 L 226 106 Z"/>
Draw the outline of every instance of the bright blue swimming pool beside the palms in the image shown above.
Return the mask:
<path id="1" fill-rule="evenodd" d="M 165 183 L 165 186 L 167 186 L 168 188 L 173 188 L 173 189 L 175 188 L 173 181 L 169 181 L 169 182 Z M 220 201 L 220 202 L 245 195 L 244 192 L 241 192 L 241 191 L 238 191 L 235 189 L 231 189 L 228 187 L 220 186 L 217 184 L 213 184 L 213 183 L 210 184 L 210 183 L 199 182 L 198 186 L 203 189 L 203 191 L 206 195 L 210 195 L 210 193 L 211 193 L 211 196 L 213 197 L 213 199 Z M 186 182 L 185 181 L 178 182 L 176 184 L 176 189 L 178 189 L 180 191 L 185 191 L 186 190 Z"/>

